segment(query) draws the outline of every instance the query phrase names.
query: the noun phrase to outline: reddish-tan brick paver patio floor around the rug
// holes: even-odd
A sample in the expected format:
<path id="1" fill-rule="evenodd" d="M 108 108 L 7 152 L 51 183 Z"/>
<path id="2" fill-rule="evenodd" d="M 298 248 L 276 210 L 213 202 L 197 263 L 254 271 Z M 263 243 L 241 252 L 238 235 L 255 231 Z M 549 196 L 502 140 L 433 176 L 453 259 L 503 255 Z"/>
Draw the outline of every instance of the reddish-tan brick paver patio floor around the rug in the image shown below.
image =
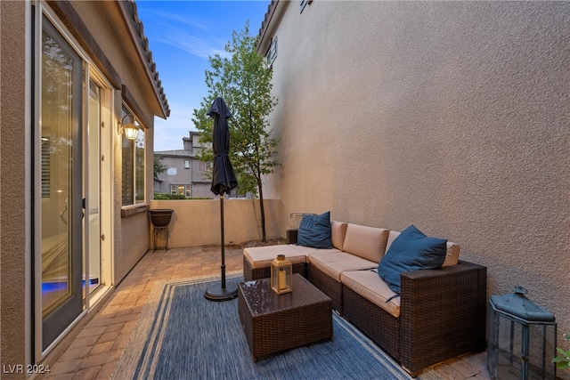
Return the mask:
<path id="1" fill-rule="evenodd" d="M 225 265 L 226 273 L 241 271 L 241 249 L 226 249 Z M 219 273 L 219 248 L 150 250 L 43 378 L 109 379 L 155 282 Z M 447 360 L 433 369 L 442 379 L 490 379 L 485 352 Z"/>

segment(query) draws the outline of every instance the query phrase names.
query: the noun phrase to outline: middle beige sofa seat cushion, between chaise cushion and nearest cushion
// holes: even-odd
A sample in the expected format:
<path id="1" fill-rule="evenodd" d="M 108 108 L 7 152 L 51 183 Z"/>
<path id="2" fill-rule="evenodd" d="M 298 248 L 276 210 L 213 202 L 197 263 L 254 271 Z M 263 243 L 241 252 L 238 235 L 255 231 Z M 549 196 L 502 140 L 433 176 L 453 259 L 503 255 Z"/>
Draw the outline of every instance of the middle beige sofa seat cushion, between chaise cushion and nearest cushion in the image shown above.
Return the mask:
<path id="1" fill-rule="evenodd" d="M 316 252 L 307 256 L 309 263 L 340 282 L 340 273 L 343 271 L 360 271 L 376 268 L 377 263 L 346 252 L 324 253 Z"/>

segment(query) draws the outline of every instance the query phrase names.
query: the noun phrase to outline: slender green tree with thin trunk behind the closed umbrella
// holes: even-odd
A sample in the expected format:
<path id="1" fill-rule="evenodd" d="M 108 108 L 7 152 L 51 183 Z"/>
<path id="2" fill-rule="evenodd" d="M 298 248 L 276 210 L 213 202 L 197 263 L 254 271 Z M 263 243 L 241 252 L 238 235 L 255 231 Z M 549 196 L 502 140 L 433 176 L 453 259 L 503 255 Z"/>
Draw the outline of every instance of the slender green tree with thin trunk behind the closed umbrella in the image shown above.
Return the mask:
<path id="1" fill-rule="evenodd" d="M 229 58 L 219 54 L 208 58 L 208 95 L 200 101 L 200 108 L 194 109 L 192 122 L 201 133 L 200 141 L 211 142 L 214 124 L 207 115 L 208 109 L 218 96 L 228 105 L 233 116 L 228 122 L 230 160 L 238 178 L 238 191 L 259 198 L 262 239 L 266 241 L 263 178 L 279 165 L 279 140 L 270 135 L 267 121 L 267 115 L 277 105 L 271 94 L 273 71 L 256 53 L 256 37 L 249 35 L 249 21 L 240 32 L 233 31 L 225 51 Z M 203 150 L 199 157 L 211 161 L 212 151 Z"/>

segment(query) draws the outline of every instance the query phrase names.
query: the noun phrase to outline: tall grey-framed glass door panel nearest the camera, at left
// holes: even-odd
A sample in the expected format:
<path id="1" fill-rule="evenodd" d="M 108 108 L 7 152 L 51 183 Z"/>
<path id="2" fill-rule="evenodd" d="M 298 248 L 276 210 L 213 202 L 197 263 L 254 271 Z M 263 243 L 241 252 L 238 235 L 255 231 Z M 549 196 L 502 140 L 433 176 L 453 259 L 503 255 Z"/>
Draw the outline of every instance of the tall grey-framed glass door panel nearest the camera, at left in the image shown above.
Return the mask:
<path id="1" fill-rule="evenodd" d="M 45 350 L 83 311 L 83 61 L 45 17 L 41 32 L 41 312 Z"/>

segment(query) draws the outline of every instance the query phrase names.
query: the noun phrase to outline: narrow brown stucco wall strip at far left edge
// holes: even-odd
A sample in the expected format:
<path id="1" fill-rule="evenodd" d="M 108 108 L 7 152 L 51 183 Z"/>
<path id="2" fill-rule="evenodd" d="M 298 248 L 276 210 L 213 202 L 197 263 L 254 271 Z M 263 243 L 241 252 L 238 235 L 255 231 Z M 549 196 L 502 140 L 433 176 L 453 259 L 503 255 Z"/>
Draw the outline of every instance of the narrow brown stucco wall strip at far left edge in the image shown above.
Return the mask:
<path id="1" fill-rule="evenodd" d="M 23 2 L 0 2 L 0 358 L 26 364 L 26 51 Z M 3 374 L 2 378 L 22 377 Z"/>

